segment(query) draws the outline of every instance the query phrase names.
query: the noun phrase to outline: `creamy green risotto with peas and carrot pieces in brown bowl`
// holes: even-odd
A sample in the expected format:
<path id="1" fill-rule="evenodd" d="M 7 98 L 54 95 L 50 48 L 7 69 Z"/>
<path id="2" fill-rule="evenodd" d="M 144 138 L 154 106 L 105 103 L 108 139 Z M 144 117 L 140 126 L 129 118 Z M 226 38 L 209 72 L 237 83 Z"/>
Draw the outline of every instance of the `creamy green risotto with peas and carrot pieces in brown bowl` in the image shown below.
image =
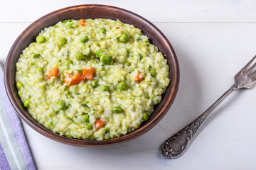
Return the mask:
<path id="1" fill-rule="evenodd" d="M 82 140 L 136 130 L 169 83 L 167 60 L 142 30 L 110 19 L 45 28 L 16 63 L 18 95 L 31 116 Z"/>

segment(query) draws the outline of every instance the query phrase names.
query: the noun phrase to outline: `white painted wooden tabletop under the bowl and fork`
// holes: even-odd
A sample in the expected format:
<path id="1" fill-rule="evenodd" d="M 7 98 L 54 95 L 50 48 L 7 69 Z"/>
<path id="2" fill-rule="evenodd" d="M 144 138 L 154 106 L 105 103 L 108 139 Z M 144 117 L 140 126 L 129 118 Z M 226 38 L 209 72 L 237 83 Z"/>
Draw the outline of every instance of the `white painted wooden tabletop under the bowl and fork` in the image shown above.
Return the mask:
<path id="1" fill-rule="evenodd" d="M 163 120 L 131 142 L 106 148 L 63 145 L 23 128 L 38 169 L 255 169 L 256 89 L 235 91 L 213 111 L 178 159 L 159 147 L 194 120 L 233 84 L 256 53 L 256 1 L 0 1 L 0 61 L 33 21 L 59 8 L 107 4 L 156 25 L 173 45 L 181 69 L 178 95 Z"/>

